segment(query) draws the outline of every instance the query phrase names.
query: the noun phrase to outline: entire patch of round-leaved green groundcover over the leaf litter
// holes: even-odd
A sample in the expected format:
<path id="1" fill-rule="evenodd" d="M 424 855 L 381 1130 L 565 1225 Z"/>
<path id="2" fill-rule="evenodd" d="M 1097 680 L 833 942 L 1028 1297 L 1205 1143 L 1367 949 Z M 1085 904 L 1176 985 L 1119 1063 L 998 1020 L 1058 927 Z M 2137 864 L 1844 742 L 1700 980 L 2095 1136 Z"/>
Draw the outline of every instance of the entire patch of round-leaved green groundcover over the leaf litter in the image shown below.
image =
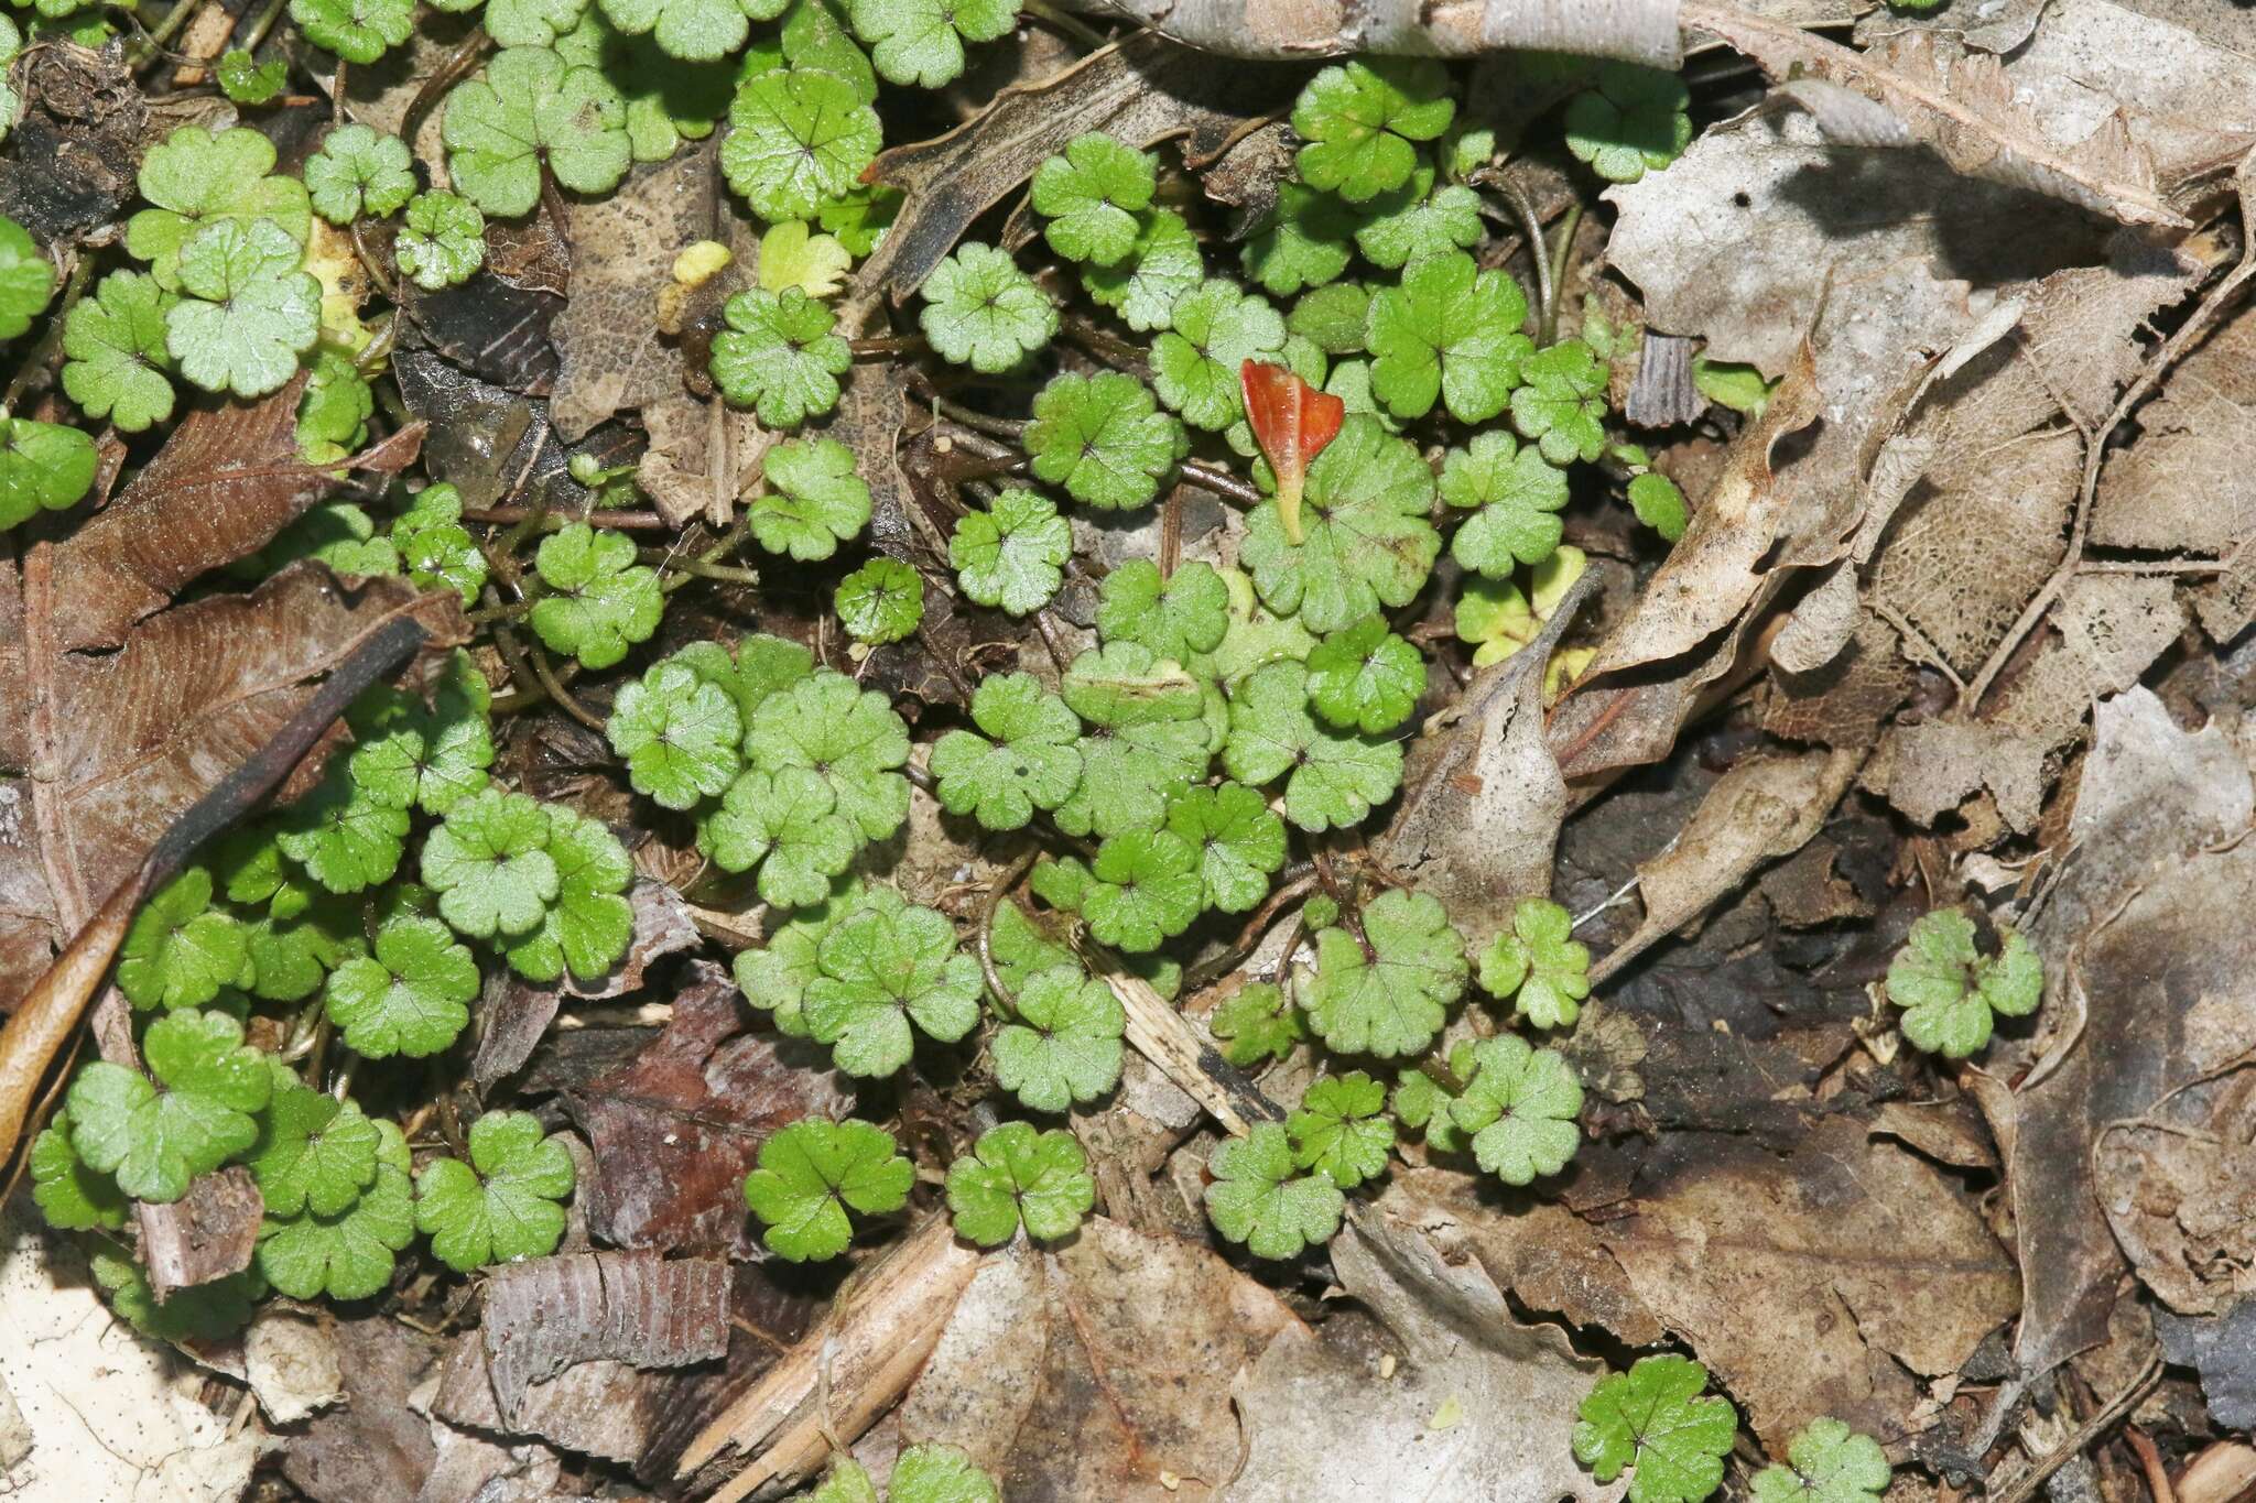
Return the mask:
<path id="1" fill-rule="evenodd" d="M 38 36 L 140 45 L 122 11 L 36 9 Z M 190 424 L 280 415 L 293 451 L 257 475 L 302 491 L 262 500 L 185 608 L 307 570 L 336 599 L 420 590 L 453 633 L 124 935 L 133 1052 L 70 1073 L 27 1170 L 117 1309 L 210 1336 L 271 1293 L 384 1300 L 566 1246 L 605 1165 L 530 1086 L 562 1077 L 494 1073 L 496 1016 L 670 998 L 690 946 L 726 946 L 776 1070 L 839 1102 L 763 1122 L 726 1176 L 772 1260 L 855 1260 L 934 1215 L 979 1248 L 1072 1248 L 1103 1183 L 1076 1133 L 1171 1003 L 1207 1066 L 1275 1070 L 1272 1120 L 1182 1179 L 1245 1266 L 1320 1269 L 1405 1165 L 1552 1194 L 1586 1136 L 1590 951 L 1543 895 L 1453 913 L 1376 836 L 1453 685 L 1534 651 L 1588 561 L 1570 534 L 1663 557 L 1697 523 L 1615 410 L 1636 324 L 1514 261 L 1489 201 L 1514 146 L 1469 68 L 1306 65 L 1243 225 L 1175 144 L 1076 131 L 997 189 L 1022 201 L 927 243 L 896 149 L 990 95 L 1022 25 L 1078 45 L 1087 23 L 1017 0 L 438 9 L 273 7 L 212 61 L 237 124 L 162 131 L 115 234 L 0 219 L 0 340 L 36 367 L 0 410 L 0 532 L 63 536 Z M 363 104 L 435 47 L 404 115 Z M 332 79 L 334 117 L 300 119 Z M 1593 65 L 1554 104 L 1512 133 L 1593 201 L 1690 142 L 1674 74 Z M 559 333 L 562 374 L 528 374 L 512 331 L 451 320 L 553 300 L 539 246 L 693 151 L 724 228 L 614 288 L 641 421 L 566 442 L 587 345 Z M 566 300 L 611 295 L 591 243 Z M 474 455 L 440 419 L 406 442 L 431 361 L 532 446 Z M 1703 372 L 1735 415 L 1766 399 Z M 1557 683 L 1575 651 L 1523 667 Z M 968 854 L 927 863 L 938 838 Z M 1245 924 L 1290 953 L 1239 973 Z M 2039 994 L 2019 933 L 1985 953 L 1956 913 L 1886 982 L 1904 1039 L 1951 1059 Z M 977 1131 L 927 1131 L 927 1100 Z M 133 1203 L 221 1170 L 257 1185 L 253 1262 L 158 1302 Z M 1640 1503 L 1706 1496 L 1735 1415 L 1703 1386 L 1638 1361 L 1575 1453 Z M 1755 1496 L 1884 1487 L 1827 1424 Z M 812 1496 L 880 1494 L 841 1460 Z M 907 1447 L 887 1496 L 999 1492 Z"/>

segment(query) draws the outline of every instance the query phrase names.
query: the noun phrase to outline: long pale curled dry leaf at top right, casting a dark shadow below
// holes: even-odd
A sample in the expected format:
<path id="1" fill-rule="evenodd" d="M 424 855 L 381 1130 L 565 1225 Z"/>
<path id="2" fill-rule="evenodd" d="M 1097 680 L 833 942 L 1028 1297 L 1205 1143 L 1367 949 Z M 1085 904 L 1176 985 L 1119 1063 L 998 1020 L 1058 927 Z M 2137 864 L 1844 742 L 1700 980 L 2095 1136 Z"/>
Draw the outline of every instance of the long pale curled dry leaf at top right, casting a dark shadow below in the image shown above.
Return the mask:
<path id="1" fill-rule="evenodd" d="M 1717 0 L 1685 0 L 1683 18 L 1755 59 L 1780 83 L 1814 79 L 1852 97 L 1861 108 L 1825 92 L 1794 97 L 1841 144 L 1922 144 L 1969 178 L 2062 198 L 2127 225 L 2188 223 L 2161 201 L 2154 162 L 2121 119 L 2107 117 L 2076 144 L 2055 142 L 2015 104 L 2006 68 L 1990 54 L 1954 56 L 1929 32 L 1906 32 L 1861 54 Z"/>

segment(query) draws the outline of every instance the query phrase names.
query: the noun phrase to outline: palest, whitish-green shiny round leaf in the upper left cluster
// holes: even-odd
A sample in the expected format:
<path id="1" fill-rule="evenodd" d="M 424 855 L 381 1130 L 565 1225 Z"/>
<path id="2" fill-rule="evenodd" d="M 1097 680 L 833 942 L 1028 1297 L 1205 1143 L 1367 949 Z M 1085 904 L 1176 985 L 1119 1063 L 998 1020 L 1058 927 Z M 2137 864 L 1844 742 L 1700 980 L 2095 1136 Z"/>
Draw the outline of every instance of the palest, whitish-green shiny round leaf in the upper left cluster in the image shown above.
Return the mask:
<path id="1" fill-rule="evenodd" d="M 264 397 L 298 374 L 320 336 L 320 284 L 302 248 L 271 219 L 219 219 L 176 264 L 185 297 L 165 313 L 165 347 L 208 392 Z"/>

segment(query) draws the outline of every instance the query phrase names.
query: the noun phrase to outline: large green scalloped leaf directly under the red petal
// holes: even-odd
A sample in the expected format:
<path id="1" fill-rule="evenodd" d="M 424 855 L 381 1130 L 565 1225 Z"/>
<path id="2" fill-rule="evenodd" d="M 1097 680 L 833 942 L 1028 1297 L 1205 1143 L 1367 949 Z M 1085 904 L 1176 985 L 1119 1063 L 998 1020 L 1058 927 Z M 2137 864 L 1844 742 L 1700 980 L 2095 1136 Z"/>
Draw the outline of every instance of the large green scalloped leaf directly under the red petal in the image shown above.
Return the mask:
<path id="1" fill-rule="evenodd" d="M 1286 539 L 1277 503 L 1263 500 L 1245 521 L 1239 559 L 1275 611 L 1299 613 L 1308 631 L 1340 631 L 1417 597 L 1442 552 L 1430 509 L 1433 471 L 1417 446 L 1349 415 L 1308 464 L 1302 541 Z"/>

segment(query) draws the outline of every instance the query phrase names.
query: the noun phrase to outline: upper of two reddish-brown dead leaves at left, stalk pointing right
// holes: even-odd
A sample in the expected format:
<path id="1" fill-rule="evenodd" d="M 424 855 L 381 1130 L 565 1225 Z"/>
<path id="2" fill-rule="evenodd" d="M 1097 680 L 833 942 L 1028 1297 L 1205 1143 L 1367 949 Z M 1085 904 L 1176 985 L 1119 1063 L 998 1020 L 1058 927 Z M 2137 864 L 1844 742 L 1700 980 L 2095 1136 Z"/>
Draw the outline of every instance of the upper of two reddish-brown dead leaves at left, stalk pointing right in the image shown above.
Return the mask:
<path id="1" fill-rule="evenodd" d="M 411 424 L 341 469 L 298 457 L 291 381 L 257 403 L 196 408 L 117 500 L 54 545 L 61 651 L 117 647 L 190 579 L 255 554 L 338 484 L 341 469 L 395 475 L 422 453 Z"/>

